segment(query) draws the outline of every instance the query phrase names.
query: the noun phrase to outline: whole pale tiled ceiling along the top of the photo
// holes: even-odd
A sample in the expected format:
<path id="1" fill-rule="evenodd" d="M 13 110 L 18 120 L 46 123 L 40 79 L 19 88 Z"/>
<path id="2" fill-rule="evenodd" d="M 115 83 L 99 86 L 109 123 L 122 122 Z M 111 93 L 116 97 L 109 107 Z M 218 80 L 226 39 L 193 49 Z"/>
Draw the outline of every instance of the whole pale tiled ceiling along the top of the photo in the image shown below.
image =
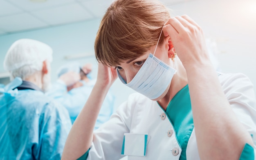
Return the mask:
<path id="1" fill-rule="evenodd" d="M 14 33 L 92 18 L 101 18 L 112 1 L 113 0 L 0 0 L 0 29 L 2 29 L 0 31 Z M 172 5 L 194 0 L 160 1 Z"/>

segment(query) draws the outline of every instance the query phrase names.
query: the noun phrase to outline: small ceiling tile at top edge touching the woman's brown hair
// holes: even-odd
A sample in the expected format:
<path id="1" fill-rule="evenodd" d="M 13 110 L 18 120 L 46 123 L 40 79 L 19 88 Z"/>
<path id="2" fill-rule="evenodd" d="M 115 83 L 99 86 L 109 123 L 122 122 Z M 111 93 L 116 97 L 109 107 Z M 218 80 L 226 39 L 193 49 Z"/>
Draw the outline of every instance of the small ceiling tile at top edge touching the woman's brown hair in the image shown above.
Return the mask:
<path id="1" fill-rule="evenodd" d="M 80 0 L 81 4 L 88 9 L 94 16 L 103 17 L 104 13 L 113 0 Z"/>

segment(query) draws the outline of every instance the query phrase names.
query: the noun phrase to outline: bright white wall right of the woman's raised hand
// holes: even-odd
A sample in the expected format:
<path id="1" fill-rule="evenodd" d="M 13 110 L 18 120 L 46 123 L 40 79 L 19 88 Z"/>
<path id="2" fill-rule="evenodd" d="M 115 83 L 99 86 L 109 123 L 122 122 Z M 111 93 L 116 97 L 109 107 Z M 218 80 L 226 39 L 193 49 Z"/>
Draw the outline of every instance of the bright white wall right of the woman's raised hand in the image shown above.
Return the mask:
<path id="1" fill-rule="evenodd" d="M 222 72 L 244 73 L 256 91 L 255 0 L 192 0 L 170 8 L 172 16 L 190 16 L 216 41 Z"/>

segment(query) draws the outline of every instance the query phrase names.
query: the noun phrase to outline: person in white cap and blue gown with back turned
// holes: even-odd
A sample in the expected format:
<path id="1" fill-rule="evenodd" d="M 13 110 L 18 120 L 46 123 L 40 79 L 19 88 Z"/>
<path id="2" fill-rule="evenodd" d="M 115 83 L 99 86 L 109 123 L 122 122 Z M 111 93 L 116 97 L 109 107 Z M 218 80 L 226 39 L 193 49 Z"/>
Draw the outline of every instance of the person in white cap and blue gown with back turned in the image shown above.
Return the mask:
<path id="1" fill-rule="evenodd" d="M 72 126 L 68 111 L 44 92 L 52 48 L 20 39 L 4 59 L 11 82 L 0 88 L 0 159 L 59 160 Z"/>

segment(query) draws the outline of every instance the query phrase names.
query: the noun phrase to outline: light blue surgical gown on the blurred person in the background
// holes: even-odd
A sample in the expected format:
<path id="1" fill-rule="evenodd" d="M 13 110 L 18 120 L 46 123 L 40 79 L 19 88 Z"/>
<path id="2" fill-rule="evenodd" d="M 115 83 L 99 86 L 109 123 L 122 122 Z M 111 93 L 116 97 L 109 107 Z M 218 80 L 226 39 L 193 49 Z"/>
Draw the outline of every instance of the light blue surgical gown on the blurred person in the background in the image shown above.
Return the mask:
<path id="1" fill-rule="evenodd" d="M 74 123 L 74 120 L 82 110 L 85 102 L 88 100 L 88 97 L 92 92 L 92 88 L 96 80 L 81 82 L 83 83 L 83 86 L 71 89 L 68 92 L 65 84 L 56 82 L 52 85 L 52 89 L 47 93 L 48 96 L 51 96 L 66 107 L 66 109 L 70 113 L 72 123 Z M 109 91 L 101 106 L 101 110 L 99 112 L 99 116 L 97 118 L 94 130 L 98 129 L 101 124 L 109 120 L 110 116 L 113 113 L 114 101 L 115 97 Z"/>

